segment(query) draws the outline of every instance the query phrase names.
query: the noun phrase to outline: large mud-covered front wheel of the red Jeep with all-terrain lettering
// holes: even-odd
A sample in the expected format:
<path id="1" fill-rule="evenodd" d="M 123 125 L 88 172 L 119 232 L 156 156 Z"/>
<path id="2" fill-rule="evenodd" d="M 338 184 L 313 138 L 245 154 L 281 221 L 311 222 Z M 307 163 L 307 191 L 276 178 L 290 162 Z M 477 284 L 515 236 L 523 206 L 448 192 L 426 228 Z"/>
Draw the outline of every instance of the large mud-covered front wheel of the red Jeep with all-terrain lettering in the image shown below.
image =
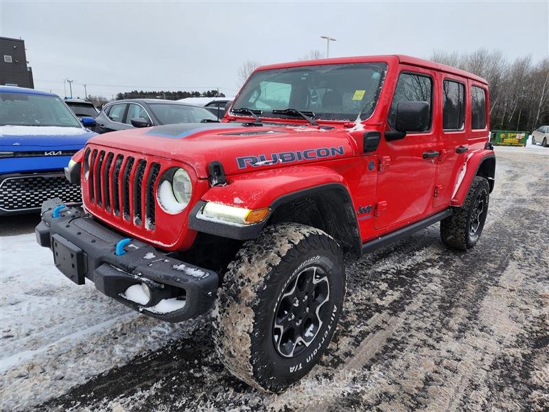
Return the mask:
<path id="1" fill-rule="evenodd" d="M 318 282 L 310 282 L 314 292 L 299 295 L 305 284 L 303 279 L 309 276 Z M 288 295 L 294 286 L 296 297 Z M 325 288 L 329 288 L 328 293 Z M 344 290 L 342 252 L 327 233 L 295 223 L 267 227 L 258 238 L 242 246 L 218 290 L 213 308 L 213 337 L 220 360 L 248 385 L 274 392 L 285 389 L 305 376 L 322 356 L 336 330 Z M 308 296 L 316 296 L 311 308 L 318 310 L 309 310 Z M 303 297 L 303 301 L 297 297 Z M 319 304 L 324 298 L 325 303 Z M 288 308 L 288 299 L 292 302 L 296 299 L 297 306 Z M 279 314 L 288 311 L 294 314 L 291 318 L 294 323 L 296 319 L 304 319 L 303 325 L 312 320 L 318 325 L 308 336 L 303 335 L 310 339 L 307 345 L 302 341 L 294 345 L 291 353 L 284 348 L 291 347 L 288 336 L 296 331 L 286 329 L 288 336 L 284 339 L 288 345 L 284 347 L 282 336 L 275 341 L 279 331 L 284 330 L 275 320 L 279 322 Z M 310 319 L 313 312 L 316 318 Z M 281 339 L 279 345 L 278 339 Z M 283 352 L 287 352 L 286 356 Z"/>

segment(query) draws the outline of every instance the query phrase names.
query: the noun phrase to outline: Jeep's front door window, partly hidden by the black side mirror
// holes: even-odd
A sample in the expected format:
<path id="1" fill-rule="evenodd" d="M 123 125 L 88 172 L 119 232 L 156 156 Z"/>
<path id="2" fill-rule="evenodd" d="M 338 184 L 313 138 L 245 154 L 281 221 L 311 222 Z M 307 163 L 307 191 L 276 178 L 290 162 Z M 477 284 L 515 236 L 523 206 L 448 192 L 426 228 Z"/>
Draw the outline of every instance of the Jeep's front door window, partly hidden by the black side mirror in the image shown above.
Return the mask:
<path id="1" fill-rule="evenodd" d="M 397 106 L 401 102 L 428 102 L 429 104 L 429 122 L 425 126 L 427 131 L 431 128 L 432 122 L 432 97 L 433 84 L 428 76 L 412 73 L 401 73 L 393 95 L 393 103 L 390 105 L 387 121 L 391 128 L 395 130 L 397 120 Z"/>

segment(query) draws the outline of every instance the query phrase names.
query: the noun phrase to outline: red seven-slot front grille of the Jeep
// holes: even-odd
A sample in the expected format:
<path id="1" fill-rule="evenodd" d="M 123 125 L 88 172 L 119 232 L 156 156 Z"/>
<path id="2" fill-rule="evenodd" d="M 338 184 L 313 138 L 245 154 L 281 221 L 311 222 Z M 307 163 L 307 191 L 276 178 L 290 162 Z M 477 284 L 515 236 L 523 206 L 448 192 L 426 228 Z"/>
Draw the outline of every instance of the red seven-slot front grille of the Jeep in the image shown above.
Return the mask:
<path id="1" fill-rule="evenodd" d="M 108 150 L 93 149 L 87 153 L 90 202 L 136 227 L 154 230 L 154 185 L 160 164 Z"/>

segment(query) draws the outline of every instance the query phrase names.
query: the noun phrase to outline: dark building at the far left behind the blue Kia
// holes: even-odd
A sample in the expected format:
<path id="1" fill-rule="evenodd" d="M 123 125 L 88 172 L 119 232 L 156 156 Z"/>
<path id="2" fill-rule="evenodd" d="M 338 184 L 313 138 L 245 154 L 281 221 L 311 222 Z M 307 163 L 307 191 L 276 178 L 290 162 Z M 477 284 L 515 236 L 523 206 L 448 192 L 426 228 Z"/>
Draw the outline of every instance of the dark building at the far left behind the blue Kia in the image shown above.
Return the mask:
<path id="1" fill-rule="evenodd" d="M 32 68 L 27 66 L 25 41 L 0 37 L 0 84 L 34 89 Z"/>

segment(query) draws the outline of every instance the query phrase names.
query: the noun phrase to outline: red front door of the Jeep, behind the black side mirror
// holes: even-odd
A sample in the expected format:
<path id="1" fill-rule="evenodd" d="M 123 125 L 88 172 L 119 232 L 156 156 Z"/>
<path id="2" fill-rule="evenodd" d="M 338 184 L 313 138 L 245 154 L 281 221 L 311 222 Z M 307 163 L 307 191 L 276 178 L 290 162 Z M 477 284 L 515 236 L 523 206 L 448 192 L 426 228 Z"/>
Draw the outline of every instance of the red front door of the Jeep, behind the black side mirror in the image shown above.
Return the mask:
<path id="1" fill-rule="evenodd" d="M 428 102 L 430 122 L 425 130 L 408 133 L 404 139 L 383 139 L 379 148 L 375 229 L 408 224 L 432 209 L 438 157 L 438 122 L 433 108 L 439 101 L 434 93 L 435 84 L 434 71 L 401 65 L 386 130 L 395 130 L 397 104 L 400 102 Z"/>

